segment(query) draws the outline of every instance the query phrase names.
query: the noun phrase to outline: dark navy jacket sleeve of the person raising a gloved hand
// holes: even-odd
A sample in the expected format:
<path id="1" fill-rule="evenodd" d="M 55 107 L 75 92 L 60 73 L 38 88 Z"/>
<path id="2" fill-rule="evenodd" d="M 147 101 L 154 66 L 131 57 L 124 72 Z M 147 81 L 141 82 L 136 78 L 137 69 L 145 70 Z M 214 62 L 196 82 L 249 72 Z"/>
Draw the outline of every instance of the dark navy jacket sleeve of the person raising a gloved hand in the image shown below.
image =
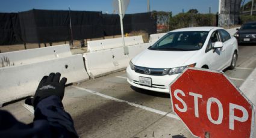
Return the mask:
<path id="1" fill-rule="evenodd" d="M 57 96 L 40 101 L 34 116 L 33 123 L 27 125 L 0 110 L 0 137 L 78 137 L 71 116 Z"/>

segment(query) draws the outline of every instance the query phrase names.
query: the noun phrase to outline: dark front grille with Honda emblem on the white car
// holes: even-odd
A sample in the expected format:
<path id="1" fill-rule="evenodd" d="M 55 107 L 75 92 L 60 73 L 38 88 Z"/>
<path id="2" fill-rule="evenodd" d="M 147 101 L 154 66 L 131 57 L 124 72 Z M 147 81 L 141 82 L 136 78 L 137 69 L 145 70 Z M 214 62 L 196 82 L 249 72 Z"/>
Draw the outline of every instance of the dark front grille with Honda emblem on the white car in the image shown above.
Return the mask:
<path id="1" fill-rule="evenodd" d="M 164 68 L 146 68 L 146 67 L 139 67 L 134 66 L 134 71 L 136 73 L 140 74 L 148 74 L 148 75 L 154 75 L 154 76 L 163 76 L 164 74 L 167 74 L 167 69 Z"/>

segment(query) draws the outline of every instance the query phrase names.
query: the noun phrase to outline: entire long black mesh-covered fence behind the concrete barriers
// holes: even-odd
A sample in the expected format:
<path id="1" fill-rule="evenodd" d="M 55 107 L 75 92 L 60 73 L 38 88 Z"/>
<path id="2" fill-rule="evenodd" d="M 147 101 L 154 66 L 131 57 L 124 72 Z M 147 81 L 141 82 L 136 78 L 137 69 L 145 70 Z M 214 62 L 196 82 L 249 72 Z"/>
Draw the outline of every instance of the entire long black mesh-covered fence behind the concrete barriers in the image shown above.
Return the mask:
<path id="1" fill-rule="evenodd" d="M 154 34 L 157 31 L 157 19 L 152 18 L 151 13 L 125 14 L 123 29 L 124 33 L 144 30 Z M 20 13 L 0 13 L 0 45 L 54 43 L 120 33 L 118 14 L 35 9 Z"/>

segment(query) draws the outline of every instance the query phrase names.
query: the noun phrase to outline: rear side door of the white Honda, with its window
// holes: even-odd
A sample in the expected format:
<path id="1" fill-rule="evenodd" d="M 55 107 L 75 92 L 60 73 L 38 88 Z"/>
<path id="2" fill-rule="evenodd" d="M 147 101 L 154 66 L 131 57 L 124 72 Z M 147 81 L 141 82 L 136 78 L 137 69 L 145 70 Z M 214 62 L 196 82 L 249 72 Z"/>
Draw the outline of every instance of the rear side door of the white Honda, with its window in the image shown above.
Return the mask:
<path id="1" fill-rule="evenodd" d="M 230 34 L 223 29 L 219 29 L 219 34 L 223 43 L 222 51 L 225 52 L 225 61 L 223 64 L 229 65 L 233 55 L 234 41 L 231 40 Z"/>

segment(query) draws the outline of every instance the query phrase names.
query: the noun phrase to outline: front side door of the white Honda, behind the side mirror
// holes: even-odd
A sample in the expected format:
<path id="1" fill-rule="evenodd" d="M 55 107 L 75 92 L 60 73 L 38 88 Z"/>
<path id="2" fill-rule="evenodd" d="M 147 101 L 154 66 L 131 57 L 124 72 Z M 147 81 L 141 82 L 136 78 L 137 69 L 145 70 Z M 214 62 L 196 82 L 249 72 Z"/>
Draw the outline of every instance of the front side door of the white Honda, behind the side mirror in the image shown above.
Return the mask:
<path id="1" fill-rule="evenodd" d="M 213 46 L 216 41 L 221 41 L 218 31 L 214 31 L 211 34 L 208 45 L 205 49 L 205 56 L 208 61 L 208 66 L 213 70 L 222 70 L 223 68 L 223 58 L 225 58 L 225 52 L 222 48 L 214 49 Z"/>

